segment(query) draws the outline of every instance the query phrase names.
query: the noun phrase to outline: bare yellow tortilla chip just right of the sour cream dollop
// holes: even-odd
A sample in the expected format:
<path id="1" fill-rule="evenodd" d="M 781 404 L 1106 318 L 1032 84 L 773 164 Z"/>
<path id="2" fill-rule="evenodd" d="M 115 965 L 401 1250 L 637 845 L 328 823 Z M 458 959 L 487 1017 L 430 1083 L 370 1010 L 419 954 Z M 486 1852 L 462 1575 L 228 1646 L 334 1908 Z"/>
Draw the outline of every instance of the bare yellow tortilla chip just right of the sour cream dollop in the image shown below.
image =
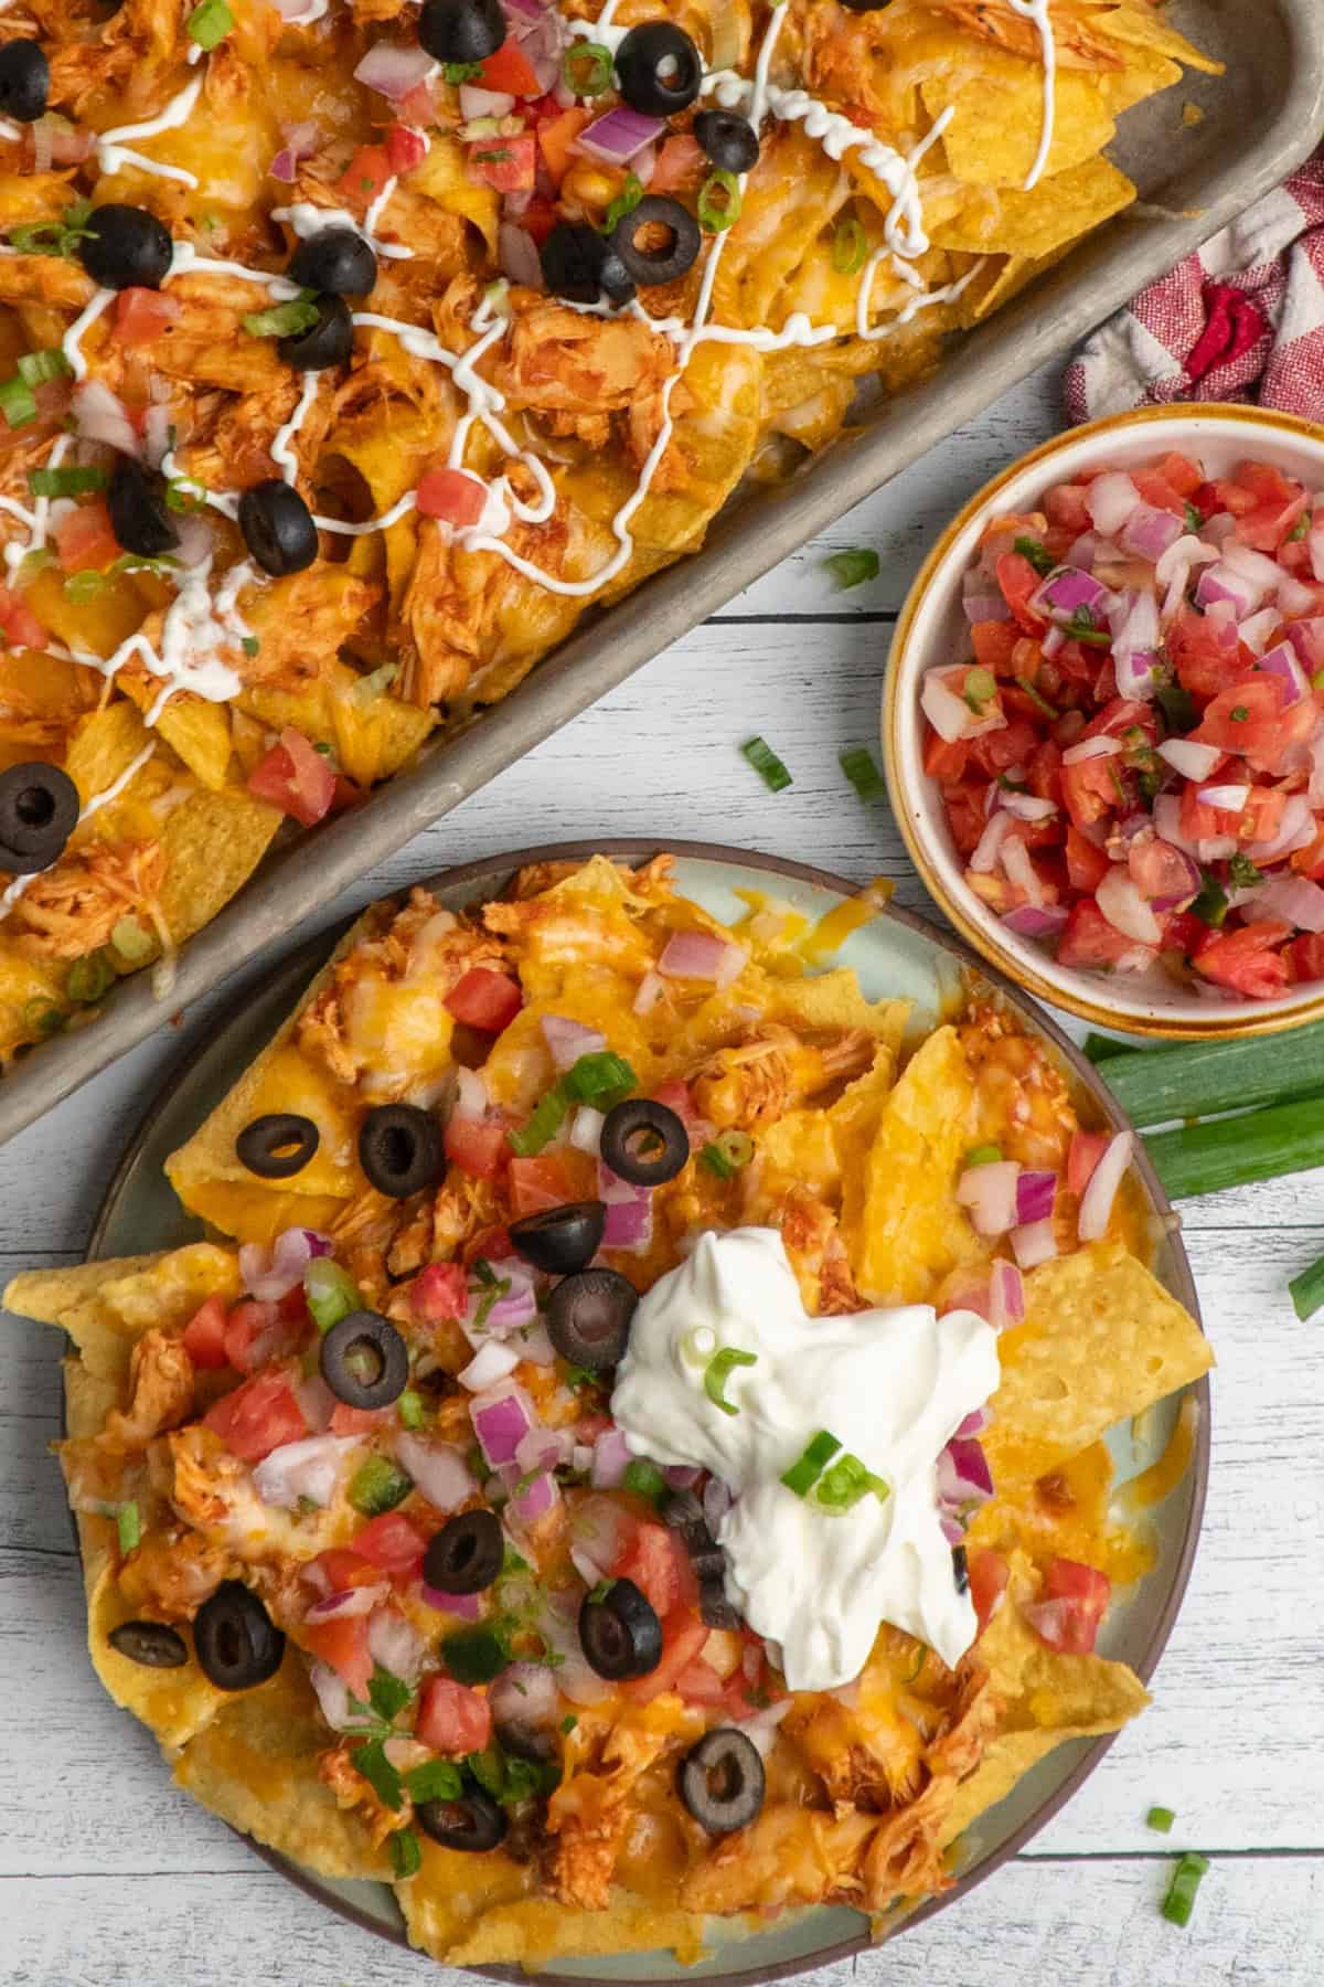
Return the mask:
<path id="1" fill-rule="evenodd" d="M 1024 1323 L 1002 1333 L 998 1353 L 983 1435 L 998 1484 L 1042 1476 L 1213 1365 L 1195 1319 L 1122 1242 L 1030 1270 Z"/>

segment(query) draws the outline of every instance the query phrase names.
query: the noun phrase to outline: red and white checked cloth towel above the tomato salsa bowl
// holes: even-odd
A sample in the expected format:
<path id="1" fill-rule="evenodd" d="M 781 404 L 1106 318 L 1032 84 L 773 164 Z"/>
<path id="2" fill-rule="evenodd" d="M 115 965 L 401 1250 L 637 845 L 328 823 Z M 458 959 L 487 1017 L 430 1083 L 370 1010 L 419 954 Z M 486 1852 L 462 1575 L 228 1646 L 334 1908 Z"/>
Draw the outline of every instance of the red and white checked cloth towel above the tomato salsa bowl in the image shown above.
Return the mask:
<path id="1" fill-rule="evenodd" d="M 1072 421 L 1173 399 L 1251 399 L 1324 421 L 1324 147 L 1094 332 Z"/>

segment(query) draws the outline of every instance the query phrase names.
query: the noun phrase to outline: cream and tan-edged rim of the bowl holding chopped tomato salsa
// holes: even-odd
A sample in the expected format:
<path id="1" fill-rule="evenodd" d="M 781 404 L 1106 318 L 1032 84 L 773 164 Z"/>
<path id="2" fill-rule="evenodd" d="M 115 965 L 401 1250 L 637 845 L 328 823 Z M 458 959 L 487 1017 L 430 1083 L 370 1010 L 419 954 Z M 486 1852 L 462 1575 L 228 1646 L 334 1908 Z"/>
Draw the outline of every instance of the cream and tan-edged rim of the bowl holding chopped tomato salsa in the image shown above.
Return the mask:
<path id="1" fill-rule="evenodd" d="M 937 864 L 929 856 L 921 835 L 917 833 L 915 815 L 907 805 L 907 781 L 901 771 L 901 727 L 913 715 L 907 707 L 903 707 L 901 676 L 913 638 L 915 618 L 925 594 L 947 566 L 955 540 L 975 515 L 996 499 L 998 491 L 1006 489 L 1008 483 L 1018 481 L 1026 469 L 1042 467 L 1044 473 L 1048 473 L 1052 459 L 1078 441 L 1092 441 L 1131 427 L 1181 427 L 1201 419 L 1239 421 L 1260 433 L 1272 433 L 1274 429 L 1286 431 L 1288 435 L 1312 441 L 1324 449 L 1324 423 L 1306 421 L 1296 413 L 1276 413 L 1266 407 L 1217 399 L 1171 401 L 1161 407 L 1127 407 L 1120 413 L 1106 413 L 1096 421 L 1082 421 L 1078 427 L 1062 429 L 1048 441 L 1042 441 L 1036 449 L 1028 449 L 1012 463 L 1006 463 L 1004 469 L 981 485 L 981 489 L 967 499 L 961 511 L 957 511 L 951 523 L 945 525 L 941 535 L 935 538 L 923 566 L 911 582 L 891 634 L 881 701 L 881 745 L 891 813 L 901 829 L 907 854 L 919 870 L 925 890 L 943 916 L 955 924 L 967 944 L 975 946 L 989 966 L 994 966 L 1022 992 L 1034 994 L 1038 999 L 1050 1001 L 1056 1007 L 1066 1007 L 1068 1013 L 1074 1013 L 1080 1021 L 1088 1021 L 1092 1027 L 1112 1027 L 1129 1035 L 1157 1037 L 1161 1041 L 1235 1041 L 1245 1035 L 1278 1035 L 1292 1027 L 1304 1027 L 1308 1021 L 1324 1017 L 1324 988 L 1320 988 L 1318 994 L 1310 994 L 1296 1001 L 1292 1007 L 1264 1001 L 1262 1013 L 1243 1013 L 1235 1017 L 1221 1017 L 1217 1009 L 1211 1009 L 1207 1019 L 1197 1015 L 1179 1017 L 1167 1013 L 1145 1015 L 1129 1009 L 1118 1013 L 1118 1009 L 1104 997 L 1108 982 L 1102 974 L 1086 976 L 1076 968 L 1060 968 L 1056 960 L 1050 960 L 1048 956 L 1044 956 L 1042 968 L 1026 966 L 1002 942 L 996 920 L 993 916 L 987 920 L 981 918 L 971 904 L 949 888 L 945 878 L 939 874 Z M 1092 997 L 1088 992 L 1088 988 L 1094 986 L 1100 988 L 1098 997 Z"/>

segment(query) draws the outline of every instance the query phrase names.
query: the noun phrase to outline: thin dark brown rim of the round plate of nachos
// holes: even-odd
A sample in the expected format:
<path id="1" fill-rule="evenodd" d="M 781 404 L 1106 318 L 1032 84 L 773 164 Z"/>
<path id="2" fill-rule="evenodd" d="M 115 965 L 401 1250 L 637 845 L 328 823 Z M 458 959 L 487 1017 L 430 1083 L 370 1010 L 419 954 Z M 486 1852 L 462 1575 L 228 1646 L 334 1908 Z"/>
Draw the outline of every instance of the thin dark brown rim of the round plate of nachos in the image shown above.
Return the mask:
<path id="1" fill-rule="evenodd" d="M 405 888 L 415 888 L 415 886 L 425 890 L 427 888 L 463 890 L 468 886 L 474 888 L 480 886 L 486 890 L 492 886 L 492 870 L 496 870 L 498 874 L 512 874 L 514 870 L 530 862 L 588 860 L 594 854 L 605 854 L 611 860 L 625 860 L 631 864 L 647 862 L 651 856 L 657 854 L 673 854 L 681 860 L 727 862 L 742 868 L 764 870 L 772 876 L 788 876 L 794 878 L 796 882 L 808 882 L 822 890 L 830 890 L 842 898 L 852 898 L 860 894 L 860 884 L 852 882 L 846 876 L 836 876 L 832 870 L 822 870 L 808 862 L 796 862 L 790 858 L 764 854 L 760 850 L 736 848 L 732 844 L 723 844 L 723 842 L 673 841 L 667 837 L 605 837 L 601 841 L 590 839 L 590 841 L 546 842 L 546 844 L 534 844 L 530 848 L 516 848 L 510 852 L 478 856 L 470 862 L 439 870 L 431 876 L 409 878 L 409 882 L 399 884 L 395 890 L 387 890 L 381 894 L 381 898 L 371 898 L 369 902 L 383 902 L 395 898 Z M 248 984 L 236 990 L 234 997 L 226 1003 L 224 1017 L 216 1017 L 214 1027 L 200 1041 L 193 1043 L 183 1055 L 175 1057 L 167 1065 L 165 1077 L 153 1089 L 153 1097 L 147 1109 L 143 1111 L 141 1119 L 137 1121 L 133 1135 L 125 1143 L 119 1162 L 115 1164 L 107 1180 L 105 1194 L 101 1196 L 101 1202 L 93 1218 L 91 1234 L 87 1238 L 89 1262 L 97 1258 L 105 1230 L 113 1220 L 119 1194 L 127 1186 L 133 1174 L 139 1150 L 151 1135 L 159 1109 L 173 1095 L 177 1083 L 189 1071 L 193 1071 L 197 1063 L 204 1061 L 210 1053 L 214 1053 L 214 1049 L 224 1041 L 230 1025 L 234 1023 L 236 1007 L 242 1007 L 248 999 L 252 999 L 266 986 L 268 980 L 288 972 L 296 960 L 306 960 L 310 972 L 316 972 L 318 966 L 326 960 L 331 946 L 337 942 L 337 938 L 343 936 L 343 932 L 349 928 L 351 922 L 363 916 L 365 908 L 367 904 L 359 906 L 349 920 L 345 916 L 330 920 L 328 924 L 322 926 L 320 932 L 316 932 L 312 938 L 302 940 L 284 958 L 272 960 L 256 980 L 250 980 Z M 1030 1001 L 1026 1001 L 1022 990 L 1006 974 L 998 972 L 985 958 L 981 958 L 979 952 L 967 946 L 961 938 L 953 936 L 951 932 L 945 932 L 939 924 L 925 918 L 921 912 L 905 910 L 899 904 L 887 902 L 877 906 L 875 916 L 889 918 L 891 922 L 905 926 L 907 930 L 915 932 L 929 944 L 937 946 L 941 952 L 949 954 L 953 960 L 957 960 L 957 964 L 977 972 L 1002 999 L 1006 999 L 1014 1007 L 1018 1017 L 1024 1023 L 1028 1023 L 1030 1031 L 1042 1035 L 1050 1043 L 1050 1047 L 1066 1063 L 1068 1073 L 1090 1095 L 1092 1103 L 1096 1105 L 1100 1115 L 1108 1121 L 1108 1125 L 1114 1131 L 1133 1129 L 1129 1119 L 1114 1099 L 1112 1091 L 1108 1089 L 1106 1081 L 1102 1079 L 1100 1071 L 1094 1067 L 1094 1063 L 1088 1061 L 1082 1049 L 1076 1047 L 1076 1043 L 1070 1039 L 1070 1035 L 1064 1033 L 1064 1029 L 1054 1021 L 1052 1015 L 1042 1013 L 1040 1009 L 1030 1005 Z M 1185 1242 L 1181 1240 L 1181 1220 L 1175 1214 L 1171 1200 L 1167 1198 L 1167 1192 L 1163 1190 L 1163 1184 L 1157 1172 L 1153 1170 L 1153 1164 L 1149 1162 L 1145 1143 L 1139 1137 L 1133 1143 L 1131 1162 L 1139 1172 L 1153 1214 L 1167 1232 L 1171 1248 L 1171 1282 L 1175 1286 L 1173 1294 L 1177 1301 L 1185 1305 L 1185 1309 L 1191 1313 L 1191 1317 L 1203 1331 L 1205 1325 L 1199 1307 L 1199 1294 L 1195 1290 L 1195 1276 L 1191 1272 L 1191 1262 L 1187 1258 Z M 1163 1598 L 1163 1605 L 1159 1609 L 1159 1615 L 1155 1619 L 1155 1625 L 1149 1633 L 1145 1647 L 1131 1663 L 1131 1669 L 1141 1679 L 1141 1683 L 1149 1683 L 1153 1671 L 1159 1665 L 1163 1649 L 1167 1647 L 1177 1615 L 1181 1611 L 1181 1604 L 1187 1594 L 1187 1586 L 1191 1582 L 1195 1552 L 1199 1548 L 1203 1530 L 1205 1498 L 1209 1490 L 1209 1458 L 1213 1441 L 1209 1375 L 1203 1375 L 1199 1381 L 1195 1381 L 1195 1385 L 1189 1391 L 1199 1405 L 1195 1447 L 1191 1462 L 1187 1464 L 1191 1474 L 1191 1508 L 1187 1514 L 1181 1546 L 1177 1550 L 1177 1560 L 1173 1566 L 1173 1576 L 1167 1596 Z M 64 1427 L 64 1387 L 60 1397 L 60 1425 L 62 1433 L 67 1433 Z M 77 1530 L 75 1530 L 75 1544 L 77 1544 Z M 985 1878 L 991 1878 L 996 1870 L 1000 1870 L 1006 1862 L 1010 1862 L 1024 1848 L 1024 1844 L 1030 1842 L 1036 1834 L 1040 1834 L 1040 1830 L 1050 1820 L 1054 1820 L 1054 1816 L 1066 1806 L 1072 1794 L 1094 1772 L 1094 1768 L 1104 1758 L 1104 1755 L 1108 1753 L 1108 1749 L 1114 1745 L 1118 1733 L 1104 1733 L 1102 1737 L 1092 1739 L 1082 1757 L 1078 1758 L 1078 1762 L 1074 1764 L 1074 1768 L 1062 1780 L 1062 1784 L 1056 1786 L 1052 1794 L 1044 1802 L 1040 1802 L 1040 1806 L 1030 1816 L 1026 1816 L 1026 1820 L 1006 1838 L 1006 1842 L 1000 1842 L 998 1848 L 993 1850 L 989 1856 L 985 1856 L 973 1870 L 959 1876 L 957 1882 L 951 1886 L 951 1890 L 945 1890 L 935 1898 L 927 1898 L 921 1906 L 917 1906 L 911 1913 L 907 1913 L 897 1923 L 891 1935 L 895 1937 L 897 1933 L 907 1931 L 911 1925 L 923 1923 L 923 1919 L 933 1917 L 945 1906 L 955 1904 L 959 1898 L 969 1896 L 973 1890 L 977 1890 L 979 1884 L 985 1882 Z M 264 1842 L 256 1842 L 250 1834 L 232 1828 L 232 1824 L 228 1822 L 224 1826 L 230 1828 L 230 1832 L 238 1836 L 238 1840 L 244 1842 L 256 1856 L 260 1856 L 264 1864 L 268 1864 L 290 1884 L 294 1884 L 296 1890 L 304 1892 L 308 1898 L 314 1898 L 320 1906 L 330 1908 L 339 1917 L 345 1917 L 349 1923 L 359 1925 L 363 1931 L 371 1931 L 375 1937 L 387 1939 L 389 1943 L 397 1945 L 401 1951 L 407 1951 L 411 1957 L 423 1961 L 425 1965 L 439 1963 L 433 1961 L 427 1953 L 419 1951 L 419 1947 L 411 1945 L 403 1925 L 399 1927 L 383 1925 L 381 1919 L 375 1917 L 371 1911 L 361 1910 L 347 1898 L 339 1898 L 333 1892 L 328 1892 L 324 1880 L 318 1878 L 316 1872 L 302 1868 L 282 1850 L 270 1848 Z M 856 1953 L 869 1951 L 871 1947 L 873 1939 L 865 1927 L 863 1931 L 852 1933 L 850 1937 L 834 1939 L 820 1951 L 804 1953 L 798 1959 L 782 1959 L 772 1965 L 730 1967 L 723 1969 L 721 1973 L 703 1975 L 701 1979 L 703 1987 L 760 1987 L 760 1983 L 764 1981 L 794 1979 L 796 1975 L 808 1973 L 816 1967 L 832 1965 L 838 1959 L 850 1959 Z M 520 1965 L 474 1965 L 474 1967 L 463 1967 L 459 1971 L 480 1975 L 484 1979 L 504 1981 L 510 1983 L 510 1987 L 530 1987 L 532 1981 L 544 1983 L 544 1987 L 613 1987 L 613 1983 L 603 1981 L 601 1975 L 572 1973 L 572 1971 L 552 1973 L 546 1967 L 530 1971 Z M 653 1983 L 641 1981 L 639 1987 L 653 1987 Z"/>

